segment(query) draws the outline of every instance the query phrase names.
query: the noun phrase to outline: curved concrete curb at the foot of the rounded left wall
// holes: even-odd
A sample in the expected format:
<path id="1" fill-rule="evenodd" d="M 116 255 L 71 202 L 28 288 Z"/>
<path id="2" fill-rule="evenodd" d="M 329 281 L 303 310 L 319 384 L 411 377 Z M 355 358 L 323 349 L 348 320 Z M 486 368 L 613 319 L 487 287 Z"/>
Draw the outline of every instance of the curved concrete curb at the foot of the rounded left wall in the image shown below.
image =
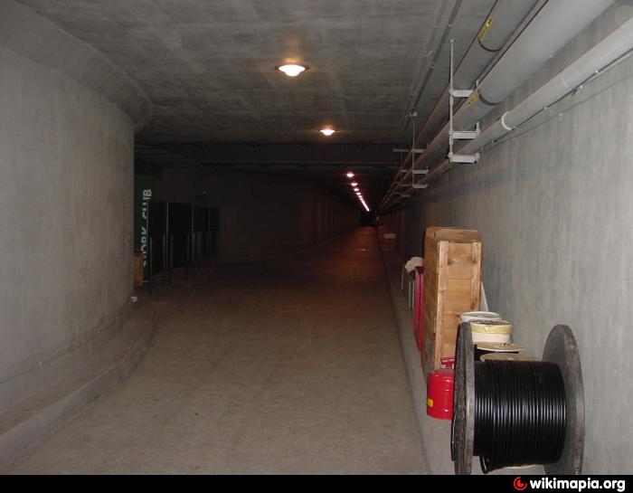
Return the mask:
<path id="1" fill-rule="evenodd" d="M 133 308 L 118 334 L 81 372 L 2 414 L 0 469 L 70 422 L 81 408 L 118 388 L 145 356 L 153 334 L 151 308 Z"/>

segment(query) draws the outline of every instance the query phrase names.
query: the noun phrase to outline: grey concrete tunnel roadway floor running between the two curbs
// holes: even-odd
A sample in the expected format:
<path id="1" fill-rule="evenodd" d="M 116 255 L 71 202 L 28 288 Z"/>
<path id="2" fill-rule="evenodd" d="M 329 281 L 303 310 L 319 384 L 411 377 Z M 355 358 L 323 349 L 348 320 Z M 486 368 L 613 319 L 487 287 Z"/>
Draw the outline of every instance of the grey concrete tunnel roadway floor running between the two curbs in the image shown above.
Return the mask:
<path id="1" fill-rule="evenodd" d="M 374 230 L 160 289 L 137 372 L 10 473 L 424 473 Z"/>

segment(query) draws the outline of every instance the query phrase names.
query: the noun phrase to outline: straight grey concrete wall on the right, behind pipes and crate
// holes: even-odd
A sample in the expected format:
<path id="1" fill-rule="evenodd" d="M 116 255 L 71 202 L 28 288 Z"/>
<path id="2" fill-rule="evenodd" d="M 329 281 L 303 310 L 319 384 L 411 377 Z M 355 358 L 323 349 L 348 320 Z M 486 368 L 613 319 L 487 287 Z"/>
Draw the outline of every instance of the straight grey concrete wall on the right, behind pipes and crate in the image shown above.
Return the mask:
<path id="1" fill-rule="evenodd" d="M 610 8 L 492 118 L 630 13 Z M 445 175 L 386 218 L 407 256 L 420 254 L 430 225 L 481 232 L 489 306 L 515 323 L 516 342 L 535 354 L 553 325 L 572 327 L 585 385 L 589 474 L 628 473 L 633 466 L 632 136 L 629 59 L 490 147 L 478 165 Z"/>

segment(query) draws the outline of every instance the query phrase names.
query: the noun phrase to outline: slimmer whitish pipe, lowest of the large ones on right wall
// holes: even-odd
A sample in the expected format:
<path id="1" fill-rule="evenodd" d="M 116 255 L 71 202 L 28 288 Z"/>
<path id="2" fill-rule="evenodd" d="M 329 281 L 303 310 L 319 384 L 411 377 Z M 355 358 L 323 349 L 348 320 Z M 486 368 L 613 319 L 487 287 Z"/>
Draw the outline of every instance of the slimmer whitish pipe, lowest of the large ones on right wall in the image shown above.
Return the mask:
<path id="1" fill-rule="evenodd" d="M 568 65 L 553 79 L 546 82 L 540 89 L 535 90 L 529 97 L 506 111 L 496 123 L 488 127 L 479 136 L 459 150 L 460 153 L 470 154 L 487 146 L 490 142 L 505 136 L 534 115 L 546 109 L 564 96 L 578 89 L 584 81 L 600 73 L 610 63 L 633 50 L 633 19 L 622 24 L 616 31 L 610 33 L 590 51 L 584 53 L 578 60 Z M 448 160 L 437 166 L 420 184 L 430 183 L 450 167 Z"/>

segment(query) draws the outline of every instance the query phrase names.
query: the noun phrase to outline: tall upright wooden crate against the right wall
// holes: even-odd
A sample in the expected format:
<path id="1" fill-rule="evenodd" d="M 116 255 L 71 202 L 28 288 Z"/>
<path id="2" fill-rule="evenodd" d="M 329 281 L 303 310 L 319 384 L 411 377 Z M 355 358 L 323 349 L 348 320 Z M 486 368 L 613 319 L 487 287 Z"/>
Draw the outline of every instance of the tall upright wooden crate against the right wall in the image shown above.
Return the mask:
<path id="1" fill-rule="evenodd" d="M 424 237 L 422 368 L 455 354 L 459 314 L 479 309 L 481 236 L 472 230 L 428 228 Z"/>

